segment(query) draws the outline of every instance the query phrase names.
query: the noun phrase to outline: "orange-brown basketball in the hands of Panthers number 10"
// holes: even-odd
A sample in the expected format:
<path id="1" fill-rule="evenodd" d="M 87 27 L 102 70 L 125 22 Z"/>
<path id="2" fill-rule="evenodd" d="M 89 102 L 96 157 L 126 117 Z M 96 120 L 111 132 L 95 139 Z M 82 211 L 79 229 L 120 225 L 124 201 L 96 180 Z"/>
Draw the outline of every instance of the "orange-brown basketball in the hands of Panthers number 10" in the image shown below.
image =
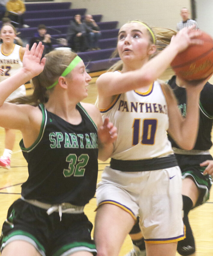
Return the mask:
<path id="1" fill-rule="evenodd" d="M 184 80 L 205 79 L 213 72 L 213 39 L 203 31 L 197 38 L 203 40 L 202 45 L 190 45 L 171 63 L 176 75 Z"/>

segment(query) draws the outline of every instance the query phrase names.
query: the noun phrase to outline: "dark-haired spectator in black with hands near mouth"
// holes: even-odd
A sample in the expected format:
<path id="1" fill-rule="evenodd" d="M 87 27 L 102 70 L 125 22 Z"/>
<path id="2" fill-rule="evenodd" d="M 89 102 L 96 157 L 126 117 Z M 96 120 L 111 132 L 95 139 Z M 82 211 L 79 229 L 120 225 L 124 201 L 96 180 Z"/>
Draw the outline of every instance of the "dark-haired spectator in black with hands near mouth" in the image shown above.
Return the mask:
<path id="1" fill-rule="evenodd" d="M 49 34 L 47 34 L 47 28 L 43 24 L 40 24 L 38 26 L 38 33 L 35 33 L 34 37 L 31 38 L 30 43 L 29 43 L 29 49 L 31 49 L 31 47 L 34 43 L 37 43 L 37 45 L 38 45 L 38 43 L 40 41 L 44 45 L 43 56 L 46 53 L 53 50 L 51 36 Z"/>

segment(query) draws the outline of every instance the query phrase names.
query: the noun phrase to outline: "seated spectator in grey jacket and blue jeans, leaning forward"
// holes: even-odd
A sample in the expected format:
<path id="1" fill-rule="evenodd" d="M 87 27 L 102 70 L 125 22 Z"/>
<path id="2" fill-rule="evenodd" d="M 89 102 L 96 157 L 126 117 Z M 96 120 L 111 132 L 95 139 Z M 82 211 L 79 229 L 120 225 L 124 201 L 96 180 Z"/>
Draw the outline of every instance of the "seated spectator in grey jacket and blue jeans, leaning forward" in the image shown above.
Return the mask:
<path id="1" fill-rule="evenodd" d="M 90 28 L 90 32 L 87 33 L 87 40 L 89 48 L 91 50 L 100 50 L 98 47 L 98 40 L 101 37 L 100 27 L 93 20 L 93 16 L 90 14 L 85 15 L 83 23 Z"/>

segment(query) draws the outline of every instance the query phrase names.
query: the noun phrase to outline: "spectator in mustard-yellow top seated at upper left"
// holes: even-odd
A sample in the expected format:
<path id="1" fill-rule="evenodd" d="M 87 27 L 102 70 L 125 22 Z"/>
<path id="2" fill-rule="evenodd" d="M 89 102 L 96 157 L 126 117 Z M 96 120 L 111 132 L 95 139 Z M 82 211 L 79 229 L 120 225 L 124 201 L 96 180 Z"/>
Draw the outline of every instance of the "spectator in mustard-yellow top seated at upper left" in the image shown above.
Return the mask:
<path id="1" fill-rule="evenodd" d="M 12 21 L 14 21 L 14 27 L 29 27 L 24 24 L 23 14 L 26 11 L 25 4 L 21 0 L 9 0 L 6 3 L 7 15 Z"/>

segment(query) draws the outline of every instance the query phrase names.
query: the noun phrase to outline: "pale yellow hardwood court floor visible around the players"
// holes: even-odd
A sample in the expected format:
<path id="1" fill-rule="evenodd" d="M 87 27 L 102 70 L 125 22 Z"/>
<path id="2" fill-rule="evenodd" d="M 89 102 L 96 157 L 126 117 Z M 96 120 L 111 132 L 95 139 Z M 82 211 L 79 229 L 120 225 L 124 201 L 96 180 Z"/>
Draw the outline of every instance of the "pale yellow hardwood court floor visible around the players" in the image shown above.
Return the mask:
<path id="1" fill-rule="evenodd" d="M 172 71 L 167 70 L 165 74 L 161 77 L 162 80 L 167 80 L 172 76 Z M 94 77 L 89 85 L 89 96 L 85 99 L 85 102 L 95 103 L 96 101 L 96 86 Z M 213 78 L 210 80 L 213 83 Z M 32 90 L 27 90 L 27 93 L 31 93 Z M 0 128 L 0 155 L 2 155 L 4 150 L 4 129 Z M 26 181 L 28 172 L 27 164 L 23 158 L 22 152 L 19 148 L 19 141 L 21 139 L 21 133 L 16 132 L 16 143 L 14 152 L 11 158 L 11 169 L 6 170 L 0 168 L 0 230 L 2 229 L 2 224 L 6 218 L 9 206 L 20 197 L 21 184 Z M 211 154 L 213 154 L 213 148 L 211 149 Z M 99 161 L 99 174 L 98 182 L 101 178 L 102 170 L 106 165 L 109 164 L 109 160 L 106 162 Z M 86 205 L 85 213 L 92 223 L 94 223 L 96 208 L 96 198 L 93 198 L 89 204 Z M 194 232 L 194 237 L 196 239 L 196 253 L 193 256 L 212 256 L 213 255 L 213 192 L 211 190 L 211 196 L 207 203 L 202 206 L 195 208 L 190 211 L 189 214 L 190 223 Z M 125 255 L 129 250 L 132 249 L 132 243 L 129 236 L 121 248 L 119 256 Z M 176 256 L 179 254 L 176 253 Z M 29 255 L 30 256 L 30 255 Z M 166 255 L 165 255 L 166 256 Z"/>

